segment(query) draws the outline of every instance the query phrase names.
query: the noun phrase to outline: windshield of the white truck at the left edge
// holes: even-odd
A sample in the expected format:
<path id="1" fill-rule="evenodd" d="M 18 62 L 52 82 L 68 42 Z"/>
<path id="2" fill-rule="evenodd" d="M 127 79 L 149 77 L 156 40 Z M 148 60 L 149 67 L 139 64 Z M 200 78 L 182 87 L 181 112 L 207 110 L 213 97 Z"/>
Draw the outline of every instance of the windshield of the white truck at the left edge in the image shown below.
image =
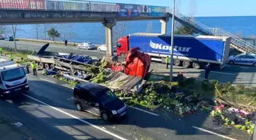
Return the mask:
<path id="1" fill-rule="evenodd" d="M 26 73 L 24 72 L 24 68 L 22 67 L 12 69 L 12 70 L 5 70 L 1 74 L 2 74 L 2 79 L 7 82 L 21 79 L 24 76 L 26 76 Z"/>

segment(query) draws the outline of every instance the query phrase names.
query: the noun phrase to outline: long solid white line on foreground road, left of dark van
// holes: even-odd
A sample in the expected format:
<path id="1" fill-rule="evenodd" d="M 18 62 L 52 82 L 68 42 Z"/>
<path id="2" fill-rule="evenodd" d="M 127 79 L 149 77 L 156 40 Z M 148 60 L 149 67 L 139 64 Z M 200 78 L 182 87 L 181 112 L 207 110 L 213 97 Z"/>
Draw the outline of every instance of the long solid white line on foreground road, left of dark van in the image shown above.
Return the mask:
<path id="1" fill-rule="evenodd" d="M 119 138 L 119 139 L 121 139 L 121 140 L 126 140 L 126 138 L 123 138 L 123 137 L 121 137 L 121 136 L 119 136 L 119 135 L 116 135 L 116 134 L 114 134 L 114 133 L 112 133 L 112 132 L 109 132 L 109 131 L 107 131 L 107 130 L 105 130 L 105 129 L 102 129 L 102 128 L 99 127 L 99 126 L 95 126 L 94 124 L 89 123 L 89 122 L 87 122 L 87 121 L 85 121 L 85 120 L 82 120 L 82 119 L 80 119 L 79 117 L 76 117 L 76 116 L 74 116 L 74 115 L 72 115 L 72 114 L 69 114 L 69 113 L 67 113 L 67 112 L 65 112 L 65 111 L 63 111 L 63 110 L 61 110 L 61 109 L 59 109 L 59 108 L 57 108 L 57 107 L 53 107 L 53 106 L 51 106 L 50 104 L 46 104 L 45 102 L 40 101 L 40 100 L 37 100 L 36 98 L 33 98 L 33 97 L 29 96 L 29 95 L 25 95 L 25 94 L 23 94 L 23 95 L 26 96 L 27 98 L 30 98 L 30 99 L 34 100 L 34 101 L 40 102 L 41 104 L 44 104 L 44 105 L 46 105 L 46 106 L 48 106 L 48 107 L 50 107 L 50 108 L 53 108 L 53 110 L 57 110 L 57 111 L 61 112 L 62 114 L 66 114 L 66 115 L 69 116 L 69 117 L 72 117 L 72 118 L 74 118 L 74 119 L 76 119 L 76 120 L 79 120 L 79 121 L 81 121 L 82 123 L 86 123 L 86 124 L 88 124 L 89 126 L 94 127 L 95 129 L 101 130 L 102 132 L 105 132 L 105 133 L 107 133 L 107 134 L 109 134 L 109 135 L 112 135 L 112 136 L 114 136 L 115 138 Z"/>

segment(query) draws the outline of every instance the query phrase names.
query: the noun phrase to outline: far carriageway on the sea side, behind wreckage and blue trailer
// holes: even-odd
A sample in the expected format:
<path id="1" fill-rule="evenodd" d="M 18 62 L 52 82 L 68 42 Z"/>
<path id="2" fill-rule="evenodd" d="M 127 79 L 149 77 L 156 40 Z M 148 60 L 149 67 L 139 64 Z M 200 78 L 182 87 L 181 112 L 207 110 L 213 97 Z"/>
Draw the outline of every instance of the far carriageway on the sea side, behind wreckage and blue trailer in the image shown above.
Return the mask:
<path id="1" fill-rule="evenodd" d="M 38 51 L 46 43 L 42 42 L 24 42 L 18 41 L 18 49 L 29 49 Z M 0 46 L 3 47 L 12 47 L 14 48 L 14 42 L 0 41 Z M 97 51 L 97 50 L 81 50 L 74 46 L 64 46 L 50 44 L 47 51 L 57 51 L 63 53 L 75 53 L 75 54 L 84 54 L 102 58 L 106 52 Z M 153 73 L 163 76 L 169 75 L 169 70 L 165 69 L 165 64 L 154 63 L 152 62 L 151 69 Z M 203 79 L 204 70 L 195 70 L 187 69 L 183 67 L 174 67 L 174 74 L 178 74 L 180 71 L 184 73 L 185 76 L 193 76 Z M 213 70 L 210 73 L 209 79 L 218 79 L 220 82 L 231 82 L 232 84 L 243 84 L 245 86 L 254 86 L 256 87 L 256 76 L 255 76 L 256 67 L 249 66 L 227 66 L 222 70 Z"/>

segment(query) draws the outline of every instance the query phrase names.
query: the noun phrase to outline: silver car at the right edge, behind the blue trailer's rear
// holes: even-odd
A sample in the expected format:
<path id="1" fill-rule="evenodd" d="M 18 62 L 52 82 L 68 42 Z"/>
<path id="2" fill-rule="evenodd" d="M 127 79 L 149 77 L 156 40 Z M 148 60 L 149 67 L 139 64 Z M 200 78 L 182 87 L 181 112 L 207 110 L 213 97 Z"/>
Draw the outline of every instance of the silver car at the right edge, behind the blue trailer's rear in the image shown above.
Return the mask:
<path id="1" fill-rule="evenodd" d="M 229 64 L 244 64 L 256 67 L 255 54 L 238 54 L 229 57 Z"/>

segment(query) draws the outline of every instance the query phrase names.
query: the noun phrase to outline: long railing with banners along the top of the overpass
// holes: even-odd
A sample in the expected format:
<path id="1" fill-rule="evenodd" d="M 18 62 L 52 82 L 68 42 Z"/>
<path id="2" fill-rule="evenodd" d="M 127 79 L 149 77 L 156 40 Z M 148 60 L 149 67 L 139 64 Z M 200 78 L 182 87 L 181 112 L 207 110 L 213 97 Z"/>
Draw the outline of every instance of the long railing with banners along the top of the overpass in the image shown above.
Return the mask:
<path id="1" fill-rule="evenodd" d="M 0 0 L 0 9 L 8 10 L 44 10 L 44 11 L 93 11 L 151 13 L 152 16 L 166 15 L 168 7 L 152 5 L 132 5 L 110 2 L 91 2 L 83 0 Z"/>

